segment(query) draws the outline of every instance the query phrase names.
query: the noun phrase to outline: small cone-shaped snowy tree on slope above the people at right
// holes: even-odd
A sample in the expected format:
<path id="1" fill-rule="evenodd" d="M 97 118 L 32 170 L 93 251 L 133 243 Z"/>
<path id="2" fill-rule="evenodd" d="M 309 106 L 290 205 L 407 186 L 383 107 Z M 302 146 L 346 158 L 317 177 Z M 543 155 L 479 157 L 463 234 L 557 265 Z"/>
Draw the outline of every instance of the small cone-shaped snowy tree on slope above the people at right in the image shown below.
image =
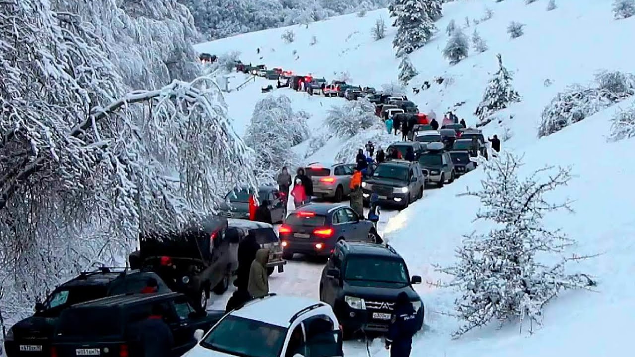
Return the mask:
<path id="1" fill-rule="evenodd" d="M 512 87 L 512 75 L 505 67 L 503 67 L 503 59 L 498 53 L 498 71 L 494 74 L 490 83 L 488 83 L 483 99 L 476 107 L 474 114 L 485 121 L 494 112 L 505 109 L 512 102 L 520 102 L 521 97 Z"/>

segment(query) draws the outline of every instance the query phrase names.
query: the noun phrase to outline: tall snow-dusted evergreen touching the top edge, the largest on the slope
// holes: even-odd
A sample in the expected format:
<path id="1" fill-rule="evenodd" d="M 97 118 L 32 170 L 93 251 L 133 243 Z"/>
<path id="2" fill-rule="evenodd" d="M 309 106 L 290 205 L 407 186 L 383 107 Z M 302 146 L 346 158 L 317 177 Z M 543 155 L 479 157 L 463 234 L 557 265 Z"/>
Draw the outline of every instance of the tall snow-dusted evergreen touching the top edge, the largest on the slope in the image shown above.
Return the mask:
<path id="1" fill-rule="evenodd" d="M 424 46 L 434 32 L 434 20 L 431 18 L 432 4 L 435 0 L 396 0 L 389 6 L 393 26 L 397 34 L 392 41 L 397 56 L 409 54 Z"/>

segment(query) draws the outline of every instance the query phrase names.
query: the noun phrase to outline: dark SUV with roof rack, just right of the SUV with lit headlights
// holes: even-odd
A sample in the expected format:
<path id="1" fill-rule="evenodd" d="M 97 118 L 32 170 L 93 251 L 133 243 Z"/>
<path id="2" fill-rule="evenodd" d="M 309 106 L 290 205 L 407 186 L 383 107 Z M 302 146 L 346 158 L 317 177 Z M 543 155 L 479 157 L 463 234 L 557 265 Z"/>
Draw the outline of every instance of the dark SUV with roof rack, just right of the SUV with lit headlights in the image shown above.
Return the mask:
<path id="1" fill-rule="evenodd" d="M 441 142 L 428 145 L 428 150 L 419 156 L 418 161 L 426 184 L 443 187 L 446 180 L 451 184 L 457 176 L 450 152 L 445 151 Z"/>

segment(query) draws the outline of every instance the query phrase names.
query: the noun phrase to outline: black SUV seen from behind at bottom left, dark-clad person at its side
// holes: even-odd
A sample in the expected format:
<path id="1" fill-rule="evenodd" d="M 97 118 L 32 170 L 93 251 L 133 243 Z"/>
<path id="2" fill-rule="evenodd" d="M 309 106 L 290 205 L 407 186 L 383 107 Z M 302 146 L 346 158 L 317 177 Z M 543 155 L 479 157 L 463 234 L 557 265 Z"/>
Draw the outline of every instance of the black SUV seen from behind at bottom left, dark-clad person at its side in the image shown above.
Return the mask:
<path id="1" fill-rule="evenodd" d="M 224 311 L 196 310 L 180 293 L 117 295 L 84 302 L 60 315 L 50 356 L 144 356 L 134 325 L 150 316 L 157 305 L 174 337 L 172 356 L 194 347 L 194 331 L 210 330 L 224 315 Z"/>

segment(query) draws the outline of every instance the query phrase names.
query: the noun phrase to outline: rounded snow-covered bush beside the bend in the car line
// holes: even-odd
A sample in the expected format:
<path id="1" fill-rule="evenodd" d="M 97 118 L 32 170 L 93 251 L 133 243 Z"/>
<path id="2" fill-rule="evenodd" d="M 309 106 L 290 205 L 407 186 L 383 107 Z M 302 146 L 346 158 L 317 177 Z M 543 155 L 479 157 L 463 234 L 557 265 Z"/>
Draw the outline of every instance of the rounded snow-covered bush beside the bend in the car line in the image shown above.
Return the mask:
<path id="1" fill-rule="evenodd" d="M 381 120 L 375 115 L 375 105 L 366 98 L 333 106 L 327 113 L 326 127 L 340 138 L 350 138 L 360 131 L 381 125 Z"/>

